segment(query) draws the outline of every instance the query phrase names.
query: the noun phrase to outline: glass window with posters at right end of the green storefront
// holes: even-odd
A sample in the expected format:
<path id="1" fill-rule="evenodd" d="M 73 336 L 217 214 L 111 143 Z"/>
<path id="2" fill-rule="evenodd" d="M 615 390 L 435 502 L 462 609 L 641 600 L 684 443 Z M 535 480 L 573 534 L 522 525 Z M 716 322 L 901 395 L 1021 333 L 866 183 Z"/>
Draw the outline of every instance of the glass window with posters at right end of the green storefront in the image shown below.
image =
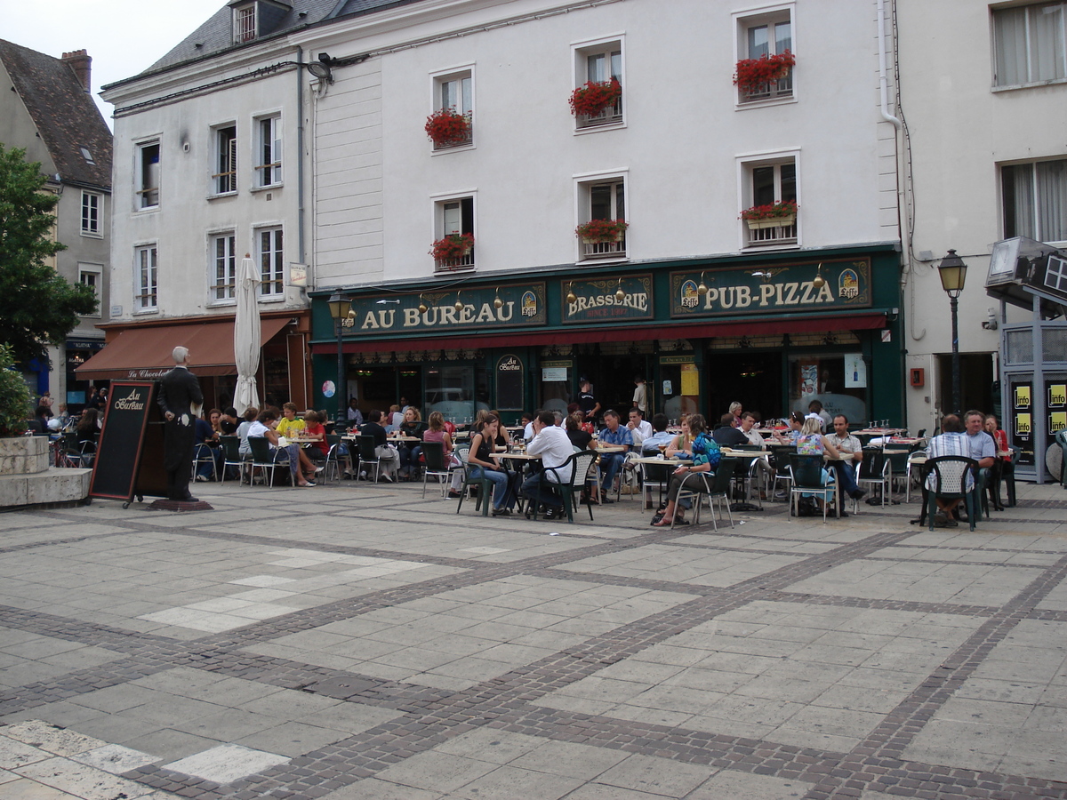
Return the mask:
<path id="1" fill-rule="evenodd" d="M 806 353 L 790 356 L 790 411 L 808 413 L 812 400 L 855 426 L 867 421 L 866 363 L 860 353 Z"/>

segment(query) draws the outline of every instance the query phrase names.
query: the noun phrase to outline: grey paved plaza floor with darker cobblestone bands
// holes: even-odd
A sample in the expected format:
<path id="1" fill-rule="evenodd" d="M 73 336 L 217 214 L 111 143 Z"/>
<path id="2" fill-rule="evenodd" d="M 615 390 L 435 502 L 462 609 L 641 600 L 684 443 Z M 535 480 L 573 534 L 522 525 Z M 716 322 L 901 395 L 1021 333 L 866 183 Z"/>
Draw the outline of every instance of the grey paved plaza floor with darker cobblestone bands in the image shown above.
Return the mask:
<path id="1" fill-rule="evenodd" d="M 0 515 L 0 798 L 1067 798 L 1067 492 L 971 533 L 418 484 Z"/>

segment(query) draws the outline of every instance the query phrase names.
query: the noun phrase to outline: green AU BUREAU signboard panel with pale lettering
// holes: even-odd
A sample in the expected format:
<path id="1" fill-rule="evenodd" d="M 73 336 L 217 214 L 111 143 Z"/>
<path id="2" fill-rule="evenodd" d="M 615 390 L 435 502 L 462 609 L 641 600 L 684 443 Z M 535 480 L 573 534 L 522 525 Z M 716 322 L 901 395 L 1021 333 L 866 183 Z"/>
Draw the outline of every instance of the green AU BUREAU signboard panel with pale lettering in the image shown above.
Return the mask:
<path id="1" fill-rule="evenodd" d="M 500 301 L 497 304 L 497 299 Z M 547 323 L 544 284 L 352 298 L 349 332 L 363 334 L 526 327 Z M 386 302 L 380 302 L 386 301 Z M 426 310 L 419 310 L 419 305 Z"/>

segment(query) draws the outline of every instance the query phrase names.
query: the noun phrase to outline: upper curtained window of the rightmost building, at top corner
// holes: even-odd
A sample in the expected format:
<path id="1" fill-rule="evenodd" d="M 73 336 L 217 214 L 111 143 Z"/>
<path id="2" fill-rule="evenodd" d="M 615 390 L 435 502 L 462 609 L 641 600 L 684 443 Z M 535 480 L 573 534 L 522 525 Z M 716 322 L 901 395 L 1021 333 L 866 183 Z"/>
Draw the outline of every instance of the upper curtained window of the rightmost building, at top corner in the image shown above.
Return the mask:
<path id="1" fill-rule="evenodd" d="M 1067 2 L 993 10 L 993 85 L 1067 79 Z"/>

